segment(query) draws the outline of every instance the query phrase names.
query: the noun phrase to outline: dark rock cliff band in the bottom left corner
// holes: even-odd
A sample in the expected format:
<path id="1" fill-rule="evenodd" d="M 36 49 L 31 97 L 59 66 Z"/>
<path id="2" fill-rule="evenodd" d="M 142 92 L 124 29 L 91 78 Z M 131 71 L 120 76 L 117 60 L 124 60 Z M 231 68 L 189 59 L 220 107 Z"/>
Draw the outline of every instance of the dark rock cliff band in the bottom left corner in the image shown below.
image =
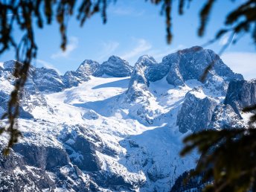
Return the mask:
<path id="1" fill-rule="evenodd" d="M 0 156 L 0 191 L 98 191 L 60 148 L 20 144 L 14 150 Z"/>

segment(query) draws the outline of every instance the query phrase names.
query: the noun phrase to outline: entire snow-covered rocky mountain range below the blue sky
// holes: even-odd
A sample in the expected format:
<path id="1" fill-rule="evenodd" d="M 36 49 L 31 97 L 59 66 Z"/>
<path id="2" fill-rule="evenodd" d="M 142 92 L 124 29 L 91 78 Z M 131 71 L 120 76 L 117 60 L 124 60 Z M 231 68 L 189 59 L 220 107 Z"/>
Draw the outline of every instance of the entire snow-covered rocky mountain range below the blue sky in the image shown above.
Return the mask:
<path id="1" fill-rule="evenodd" d="M 14 63 L 0 68 L 0 113 Z M 21 98 L 23 138 L 0 156 L 0 191 L 170 191 L 199 158 L 179 156 L 182 138 L 246 125 L 241 108 L 256 103 L 255 87 L 198 46 L 161 63 L 144 55 L 134 67 L 115 56 L 85 60 L 63 76 L 32 67 Z M 0 140 L 2 149 L 6 135 Z"/>

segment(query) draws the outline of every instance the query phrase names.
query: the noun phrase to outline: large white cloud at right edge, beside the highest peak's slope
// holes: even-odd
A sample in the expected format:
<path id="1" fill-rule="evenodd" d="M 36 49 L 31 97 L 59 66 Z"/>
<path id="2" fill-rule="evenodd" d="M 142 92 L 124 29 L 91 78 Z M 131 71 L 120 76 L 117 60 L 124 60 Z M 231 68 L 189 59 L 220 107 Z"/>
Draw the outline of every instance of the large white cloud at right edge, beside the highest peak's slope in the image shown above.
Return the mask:
<path id="1" fill-rule="evenodd" d="M 246 80 L 256 77 L 256 54 L 251 52 L 227 52 L 221 56 L 223 62 L 234 72 L 243 74 Z"/>

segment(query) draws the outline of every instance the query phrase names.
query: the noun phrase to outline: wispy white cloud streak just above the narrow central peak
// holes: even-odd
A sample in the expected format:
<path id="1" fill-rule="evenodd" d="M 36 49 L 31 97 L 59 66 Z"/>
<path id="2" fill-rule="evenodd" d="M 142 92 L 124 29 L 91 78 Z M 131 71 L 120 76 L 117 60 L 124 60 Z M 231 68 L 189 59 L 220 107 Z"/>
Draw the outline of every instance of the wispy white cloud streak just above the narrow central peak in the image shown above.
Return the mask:
<path id="1" fill-rule="evenodd" d="M 141 54 L 147 54 L 146 51 L 149 51 L 151 48 L 152 45 L 150 42 L 147 42 L 145 39 L 137 39 L 137 45 L 135 48 L 124 53 L 121 58 L 124 58 L 124 60 L 131 60 L 135 57 L 140 57 Z"/>

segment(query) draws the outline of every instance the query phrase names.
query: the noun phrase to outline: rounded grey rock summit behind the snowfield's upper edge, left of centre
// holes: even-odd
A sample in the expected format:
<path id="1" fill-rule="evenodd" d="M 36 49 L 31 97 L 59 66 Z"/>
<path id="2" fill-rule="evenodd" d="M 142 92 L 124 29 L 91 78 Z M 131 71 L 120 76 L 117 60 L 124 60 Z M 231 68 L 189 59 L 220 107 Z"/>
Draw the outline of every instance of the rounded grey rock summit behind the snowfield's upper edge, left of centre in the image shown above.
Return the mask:
<path id="1" fill-rule="evenodd" d="M 132 66 L 120 57 L 111 56 L 109 60 L 103 62 L 92 74 L 95 77 L 101 77 L 103 74 L 112 77 L 128 77 L 132 73 Z"/>

